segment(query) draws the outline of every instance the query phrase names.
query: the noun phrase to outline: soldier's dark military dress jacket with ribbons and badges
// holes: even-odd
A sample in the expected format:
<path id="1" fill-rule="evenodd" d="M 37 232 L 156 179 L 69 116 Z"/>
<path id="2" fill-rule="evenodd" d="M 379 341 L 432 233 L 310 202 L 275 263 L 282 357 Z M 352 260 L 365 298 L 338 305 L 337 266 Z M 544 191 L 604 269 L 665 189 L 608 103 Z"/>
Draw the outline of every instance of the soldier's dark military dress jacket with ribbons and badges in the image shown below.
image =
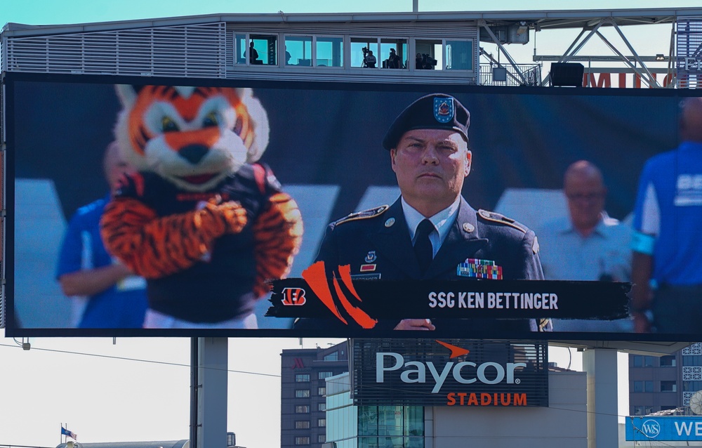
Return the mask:
<path id="1" fill-rule="evenodd" d="M 368 260 L 366 260 L 368 258 Z M 420 272 L 409 236 L 402 202 L 352 213 L 331 223 L 317 261 L 327 268 L 350 265 L 352 277 L 366 277 L 361 265 L 375 264 L 380 279 L 463 279 L 456 268 L 466 258 L 494 261 L 503 268 L 503 279 L 543 279 L 534 232 L 499 213 L 475 211 L 461 198 L 456 221 L 424 275 Z M 369 261 L 372 259 L 372 262 Z M 484 280 L 490 281 L 490 280 Z M 396 300 L 388 297 L 389 301 Z M 398 304 L 402 306 L 402 304 Z M 331 315 L 330 315 L 331 317 Z M 408 316 L 410 317 L 410 316 Z M 418 316 L 414 316 L 418 317 Z M 378 322 L 376 329 L 392 329 L 399 323 Z M 432 319 L 439 333 L 474 331 L 530 331 L 529 319 Z M 296 328 L 329 328 L 343 323 L 335 319 L 301 319 Z M 350 328 L 350 330 L 352 330 Z"/>

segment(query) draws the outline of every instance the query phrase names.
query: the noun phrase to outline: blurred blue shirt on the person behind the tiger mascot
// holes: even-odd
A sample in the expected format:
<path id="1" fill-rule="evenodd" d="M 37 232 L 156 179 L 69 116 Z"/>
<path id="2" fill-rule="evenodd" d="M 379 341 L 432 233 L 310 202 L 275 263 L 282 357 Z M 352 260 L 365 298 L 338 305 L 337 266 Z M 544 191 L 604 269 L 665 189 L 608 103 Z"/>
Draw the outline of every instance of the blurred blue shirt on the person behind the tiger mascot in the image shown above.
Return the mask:
<path id="1" fill-rule="evenodd" d="M 72 216 L 63 238 L 56 278 L 79 270 L 113 263 L 100 237 L 100 217 L 110 196 L 82 206 Z M 80 328 L 141 328 L 147 308 L 145 282 L 126 277 L 110 289 L 90 296 L 80 319 Z"/>

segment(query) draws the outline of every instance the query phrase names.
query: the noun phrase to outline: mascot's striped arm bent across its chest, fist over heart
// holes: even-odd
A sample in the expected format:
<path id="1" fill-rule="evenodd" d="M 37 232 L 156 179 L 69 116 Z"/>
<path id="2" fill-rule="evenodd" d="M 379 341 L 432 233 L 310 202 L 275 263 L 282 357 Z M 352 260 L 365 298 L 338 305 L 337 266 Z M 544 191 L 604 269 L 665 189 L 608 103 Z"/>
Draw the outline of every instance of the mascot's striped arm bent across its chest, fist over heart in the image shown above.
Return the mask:
<path id="1" fill-rule="evenodd" d="M 133 272 L 146 278 L 173 274 L 201 260 L 215 239 L 238 233 L 246 210 L 238 202 L 159 218 L 137 199 L 115 198 L 105 207 L 100 231 L 105 246 Z"/>

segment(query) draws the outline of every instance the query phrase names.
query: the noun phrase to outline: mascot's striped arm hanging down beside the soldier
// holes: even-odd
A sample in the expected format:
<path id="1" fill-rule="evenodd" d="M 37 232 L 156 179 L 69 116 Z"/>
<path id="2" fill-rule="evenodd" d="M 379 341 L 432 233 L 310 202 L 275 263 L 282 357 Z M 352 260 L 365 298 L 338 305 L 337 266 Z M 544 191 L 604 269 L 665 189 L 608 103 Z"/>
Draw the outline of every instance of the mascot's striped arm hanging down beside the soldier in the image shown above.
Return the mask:
<path id="1" fill-rule="evenodd" d="M 298 204 L 286 193 L 278 192 L 253 224 L 256 282 L 253 293 L 261 297 L 270 291 L 267 282 L 289 274 L 293 257 L 300 250 L 303 220 Z"/>

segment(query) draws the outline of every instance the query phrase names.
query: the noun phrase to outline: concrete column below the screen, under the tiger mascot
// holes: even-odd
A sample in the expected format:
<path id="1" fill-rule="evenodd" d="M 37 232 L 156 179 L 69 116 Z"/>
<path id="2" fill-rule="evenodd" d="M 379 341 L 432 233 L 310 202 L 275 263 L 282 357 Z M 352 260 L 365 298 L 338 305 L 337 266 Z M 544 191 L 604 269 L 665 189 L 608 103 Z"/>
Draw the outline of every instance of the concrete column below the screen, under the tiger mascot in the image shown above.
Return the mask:
<path id="1" fill-rule="evenodd" d="M 197 447 L 227 447 L 227 338 L 198 338 Z"/>

